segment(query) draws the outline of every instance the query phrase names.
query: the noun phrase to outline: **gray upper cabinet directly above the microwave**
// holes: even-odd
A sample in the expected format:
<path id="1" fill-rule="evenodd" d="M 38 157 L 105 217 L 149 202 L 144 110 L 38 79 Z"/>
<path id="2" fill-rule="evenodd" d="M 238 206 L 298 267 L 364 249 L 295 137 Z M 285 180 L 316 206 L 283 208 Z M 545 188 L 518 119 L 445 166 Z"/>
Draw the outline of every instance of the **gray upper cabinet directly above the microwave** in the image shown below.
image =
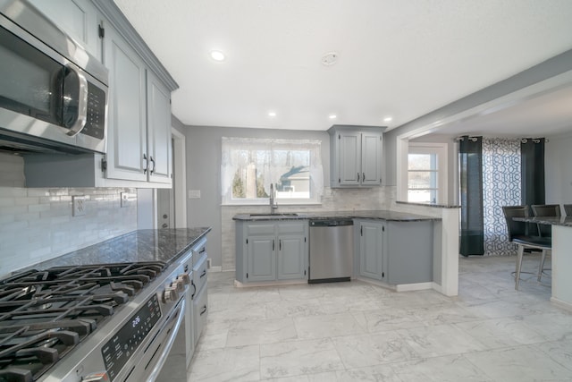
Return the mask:
<path id="1" fill-rule="evenodd" d="M 29 3 L 101 61 L 99 14 L 89 0 L 29 0 Z"/>

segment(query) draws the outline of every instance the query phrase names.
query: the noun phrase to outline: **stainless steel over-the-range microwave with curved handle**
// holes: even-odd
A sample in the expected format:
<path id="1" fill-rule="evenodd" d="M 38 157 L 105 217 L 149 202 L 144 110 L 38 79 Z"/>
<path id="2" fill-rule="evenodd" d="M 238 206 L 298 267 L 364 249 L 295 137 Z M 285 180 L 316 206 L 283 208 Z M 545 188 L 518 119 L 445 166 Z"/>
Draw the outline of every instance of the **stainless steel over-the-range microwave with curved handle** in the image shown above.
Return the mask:
<path id="1" fill-rule="evenodd" d="M 108 72 L 25 0 L 0 0 L 0 150 L 105 153 Z"/>

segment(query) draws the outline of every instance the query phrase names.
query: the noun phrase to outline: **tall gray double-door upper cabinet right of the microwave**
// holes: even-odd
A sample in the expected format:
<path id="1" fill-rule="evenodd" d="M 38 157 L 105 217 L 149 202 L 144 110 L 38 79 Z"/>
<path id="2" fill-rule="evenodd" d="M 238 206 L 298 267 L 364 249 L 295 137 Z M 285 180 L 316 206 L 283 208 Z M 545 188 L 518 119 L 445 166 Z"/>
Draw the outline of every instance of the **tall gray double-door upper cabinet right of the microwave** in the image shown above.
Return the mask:
<path id="1" fill-rule="evenodd" d="M 104 53 L 107 177 L 171 184 L 171 92 L 112 27 L 105 27 Z"/>

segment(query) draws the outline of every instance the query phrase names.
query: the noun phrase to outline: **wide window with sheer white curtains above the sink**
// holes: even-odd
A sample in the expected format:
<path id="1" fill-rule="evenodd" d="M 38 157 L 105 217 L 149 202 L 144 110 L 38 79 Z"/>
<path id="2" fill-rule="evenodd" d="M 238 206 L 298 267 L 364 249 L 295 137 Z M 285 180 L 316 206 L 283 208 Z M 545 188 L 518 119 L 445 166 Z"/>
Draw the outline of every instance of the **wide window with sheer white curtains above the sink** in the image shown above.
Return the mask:
<path id="1" fill-rule="evenodd" d="M 266 204 L 271 183 L 279 204 L 318 202 L 324 190 L 320 145 L 319 140 L 223 137 L 223 204 Z"/>

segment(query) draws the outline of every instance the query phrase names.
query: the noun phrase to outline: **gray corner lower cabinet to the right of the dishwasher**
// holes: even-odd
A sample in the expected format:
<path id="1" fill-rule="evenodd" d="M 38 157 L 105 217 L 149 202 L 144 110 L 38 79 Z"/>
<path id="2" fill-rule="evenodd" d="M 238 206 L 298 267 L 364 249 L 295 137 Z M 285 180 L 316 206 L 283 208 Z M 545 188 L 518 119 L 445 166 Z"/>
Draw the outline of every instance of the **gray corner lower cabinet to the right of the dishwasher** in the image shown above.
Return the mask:
<path id="1" fill-rule="evenodd" d="M 393 285 L 433 281 L 433 221 L 357 223 L 359 276 Z"/>

